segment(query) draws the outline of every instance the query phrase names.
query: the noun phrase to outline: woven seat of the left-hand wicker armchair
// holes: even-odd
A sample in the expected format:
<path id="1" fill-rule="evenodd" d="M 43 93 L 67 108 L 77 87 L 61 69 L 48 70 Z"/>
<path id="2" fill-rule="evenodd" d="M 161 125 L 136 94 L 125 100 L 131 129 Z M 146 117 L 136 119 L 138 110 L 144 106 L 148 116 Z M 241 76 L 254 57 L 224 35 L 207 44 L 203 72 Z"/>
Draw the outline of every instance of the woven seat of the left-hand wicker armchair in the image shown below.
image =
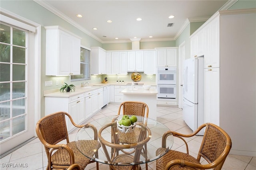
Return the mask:
<path id="1" fill-rule="evenodd" d="M 90 158 L 87 158 L 82 154 L 78 148 L 76 147 L 75 141 L 68 143 L 67 145 L 73 150 L 74 152 L 74 158 L 75 163 L 79 164 L 80 168 L 83 170 L 86 165 L 90 162 Z M 99 149 L 100 148 L 100 142 L 96 140 L 81 140 L 78 141 L 79 145 L 84 148 L 84 152 L 87 152 L 88 155 L 93 156 L 94 152 L 92 148 Z M 52 165 L 60 166 L 70 166 L 70 158 L 68 155 L 68 152 L 66 149 L 58 149 L 53 155 L 52 155 Z"/>

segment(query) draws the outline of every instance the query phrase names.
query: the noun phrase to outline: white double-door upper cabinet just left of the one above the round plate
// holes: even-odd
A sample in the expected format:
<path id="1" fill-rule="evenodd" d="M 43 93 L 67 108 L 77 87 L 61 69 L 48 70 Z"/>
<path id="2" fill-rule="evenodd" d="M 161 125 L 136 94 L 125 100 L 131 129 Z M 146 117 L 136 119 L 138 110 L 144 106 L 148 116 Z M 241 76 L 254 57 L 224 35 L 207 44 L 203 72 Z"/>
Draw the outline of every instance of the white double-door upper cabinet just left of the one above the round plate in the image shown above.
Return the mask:
<path id="1" fill-rule="evenodd" d="M 114 51 L 111 53 L 112 74 L 127 74 L 127 51 Z"/>

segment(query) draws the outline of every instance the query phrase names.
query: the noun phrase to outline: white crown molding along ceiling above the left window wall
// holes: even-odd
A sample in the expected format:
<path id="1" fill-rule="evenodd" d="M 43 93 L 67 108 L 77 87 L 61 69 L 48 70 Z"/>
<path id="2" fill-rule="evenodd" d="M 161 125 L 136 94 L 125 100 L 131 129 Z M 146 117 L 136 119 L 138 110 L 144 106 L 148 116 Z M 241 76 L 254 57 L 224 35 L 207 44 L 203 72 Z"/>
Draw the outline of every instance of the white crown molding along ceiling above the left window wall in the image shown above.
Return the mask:
<path id="1" fill-rule="evenodd" d="M 46 8 L 47 10 L 49 10 L 50 12 L 52 12 L 53 14 L 55 14 L 56 16 L 59 16 L 60 18 L 62 18 L 63 20 L 67 21 L 68 23 L 70 23 L 71 25 L 73 25 L 74 27 L 80 29 L 81 31 L 83 31 L 84 33 L 86 33 L 87 35 L 89 35 L 90 37 L 96 39 L 97 41 L 99 41 L 100 43 L 102 43 L 102 40 L 100 38 L 98 38 L 96 35 L 94 35 L 93 33 L 91 33 L 90 31 L 88 31 L 87 29 L 85 29 L 84 27 L 82 27 L 81 25 L 79 25 L 78 23 L 74 22 L 71 18 L 69 18 L 68 16 L 64 15 L 62 12 L 58 11 L 56 8 L 50 6 L 47 2 L 45 2 L 44 0 L 33 0 L 34 2 L 38 3 L 39 5 L 41 5 L 42 7 Z"/>

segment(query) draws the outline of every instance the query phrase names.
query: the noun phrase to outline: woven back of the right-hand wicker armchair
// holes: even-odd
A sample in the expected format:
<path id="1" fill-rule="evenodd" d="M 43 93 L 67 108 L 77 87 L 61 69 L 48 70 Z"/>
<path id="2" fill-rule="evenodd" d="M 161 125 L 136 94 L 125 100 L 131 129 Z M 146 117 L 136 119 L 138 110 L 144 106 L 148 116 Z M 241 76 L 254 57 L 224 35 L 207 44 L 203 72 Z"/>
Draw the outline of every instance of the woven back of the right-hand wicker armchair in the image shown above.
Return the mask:
<path id="1" fill-rule="evenodd" d="M 212 123 L 206 123 L 206 130 L 197 160 L 200 160 L 202 156 L 209 163 L 216 162 L 218 165 L 215 170 L 220 170 L 231 146 L 230 136 L 223 129 Z"/>

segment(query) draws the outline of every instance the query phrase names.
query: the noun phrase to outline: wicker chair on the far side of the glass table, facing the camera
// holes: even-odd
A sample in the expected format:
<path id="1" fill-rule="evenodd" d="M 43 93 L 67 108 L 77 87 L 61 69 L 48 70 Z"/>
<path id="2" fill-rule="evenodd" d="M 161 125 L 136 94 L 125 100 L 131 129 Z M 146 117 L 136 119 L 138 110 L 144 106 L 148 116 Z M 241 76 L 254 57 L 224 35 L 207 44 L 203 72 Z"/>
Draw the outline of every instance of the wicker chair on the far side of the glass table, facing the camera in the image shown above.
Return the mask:
<path id="1" fill-rule="evenodd" d="M 118 109 L 118 115 L 120 115 L 121 109 L 123 111 L 123 115 L 136 115 L 148 118 L 148 105 L 144 102 L 134 102 L 134 101 L 126 101 L 120 104 Z M 135 127 L 132 133 L 120 133 L 119 132 L 119 141 L 123 144 L 133 144 L 137 143 L 138 136 L 140 133 L 140 128 Z M 135 150 L 131 151 L 135 152 Z M 142 154 L 147 159 L 147 145 L 145 144 L 144 148 L 142 149 Z M 148 170 L 148 163 L 146 163 L 146 170 Z"/>

